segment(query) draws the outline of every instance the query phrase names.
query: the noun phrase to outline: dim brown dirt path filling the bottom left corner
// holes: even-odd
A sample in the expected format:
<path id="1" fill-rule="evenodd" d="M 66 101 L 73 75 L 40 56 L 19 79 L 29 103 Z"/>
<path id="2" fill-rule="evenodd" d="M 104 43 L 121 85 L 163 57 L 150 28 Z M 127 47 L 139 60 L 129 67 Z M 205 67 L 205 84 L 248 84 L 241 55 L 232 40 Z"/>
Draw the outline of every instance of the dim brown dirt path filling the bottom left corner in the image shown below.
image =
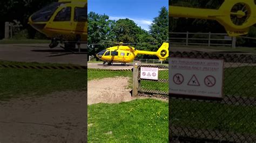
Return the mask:
<path id="1" fill-rule="evenodd" d="M 86 142 L 86 91 L 0 102 L 0 142 Z"/>

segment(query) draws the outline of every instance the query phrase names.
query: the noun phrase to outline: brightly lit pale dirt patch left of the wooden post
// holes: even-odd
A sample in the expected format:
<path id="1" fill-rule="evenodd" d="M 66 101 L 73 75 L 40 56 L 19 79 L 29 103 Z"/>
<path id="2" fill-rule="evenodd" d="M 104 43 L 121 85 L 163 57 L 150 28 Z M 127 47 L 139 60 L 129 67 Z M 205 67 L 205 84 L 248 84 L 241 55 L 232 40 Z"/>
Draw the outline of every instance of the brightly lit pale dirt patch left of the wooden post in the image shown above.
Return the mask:
<path id="1" fill-rule="evenodd" d="M 103 78 L 88 82 L 88 104 L 132 101 L 129 77 Z"/>

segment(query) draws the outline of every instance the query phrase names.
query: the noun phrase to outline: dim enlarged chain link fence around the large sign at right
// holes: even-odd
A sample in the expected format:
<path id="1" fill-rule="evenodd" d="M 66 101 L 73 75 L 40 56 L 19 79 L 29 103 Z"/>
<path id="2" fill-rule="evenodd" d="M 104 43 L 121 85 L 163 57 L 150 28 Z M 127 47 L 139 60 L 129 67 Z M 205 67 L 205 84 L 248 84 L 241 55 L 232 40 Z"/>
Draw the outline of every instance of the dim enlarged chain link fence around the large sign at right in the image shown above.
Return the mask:
<path id="1" fill-rule="evenodd" d="M 170 58 L 224 60 L 221 101 L 170 95 L 170 142 L 256 141 L 256 55 L 171 52 Z"/>

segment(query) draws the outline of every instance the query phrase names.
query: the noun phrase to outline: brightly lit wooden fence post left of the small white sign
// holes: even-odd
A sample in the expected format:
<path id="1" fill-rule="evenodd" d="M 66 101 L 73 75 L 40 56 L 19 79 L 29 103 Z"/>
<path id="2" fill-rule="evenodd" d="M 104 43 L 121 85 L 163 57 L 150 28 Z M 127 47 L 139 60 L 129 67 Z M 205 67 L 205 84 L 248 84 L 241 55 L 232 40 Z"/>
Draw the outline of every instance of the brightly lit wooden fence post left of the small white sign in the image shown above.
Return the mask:
<path id="1" fill-rule="evenodd" d="M 138 88 L 139 88 L 139 66 L 141 62 L 135 61 L 133 63 L 133 73 L 132 73 L 132 97 L 138 96 Z"/>

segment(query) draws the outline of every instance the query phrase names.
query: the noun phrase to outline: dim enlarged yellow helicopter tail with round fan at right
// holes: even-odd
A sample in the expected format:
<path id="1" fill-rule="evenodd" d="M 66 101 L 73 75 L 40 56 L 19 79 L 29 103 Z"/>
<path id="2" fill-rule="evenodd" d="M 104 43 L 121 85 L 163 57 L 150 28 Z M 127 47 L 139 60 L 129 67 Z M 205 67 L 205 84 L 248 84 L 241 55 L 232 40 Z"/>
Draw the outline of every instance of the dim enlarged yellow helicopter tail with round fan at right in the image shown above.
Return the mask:
<path id="1" fill-rule="evenodd" d="M 217 20 L 228 35 L 237 37 L 247 34 L 256 22 L 254 0 L 225 0 L 218 10 L 169 6 L 169 16 Z"/>

